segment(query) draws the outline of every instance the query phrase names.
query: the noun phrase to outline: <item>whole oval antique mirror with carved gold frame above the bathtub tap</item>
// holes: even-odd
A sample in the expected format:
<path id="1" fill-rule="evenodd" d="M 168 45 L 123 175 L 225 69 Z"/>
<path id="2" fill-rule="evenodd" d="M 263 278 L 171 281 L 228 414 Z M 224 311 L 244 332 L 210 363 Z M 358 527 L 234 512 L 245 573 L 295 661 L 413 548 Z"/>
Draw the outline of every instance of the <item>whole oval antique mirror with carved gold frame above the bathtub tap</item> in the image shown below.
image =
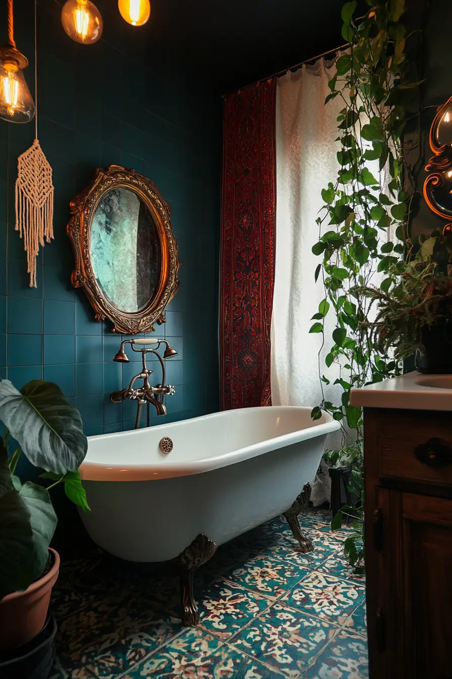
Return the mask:
<path id="1" fill-rule="evenodd" d="M 110 165 L 71 203 L 73 287 L 83 287 L 96 320 L 112 331 L 149 332 L 165 321 L 178 291 L 178 245 L 170 207 L 150 179 Z"/>

